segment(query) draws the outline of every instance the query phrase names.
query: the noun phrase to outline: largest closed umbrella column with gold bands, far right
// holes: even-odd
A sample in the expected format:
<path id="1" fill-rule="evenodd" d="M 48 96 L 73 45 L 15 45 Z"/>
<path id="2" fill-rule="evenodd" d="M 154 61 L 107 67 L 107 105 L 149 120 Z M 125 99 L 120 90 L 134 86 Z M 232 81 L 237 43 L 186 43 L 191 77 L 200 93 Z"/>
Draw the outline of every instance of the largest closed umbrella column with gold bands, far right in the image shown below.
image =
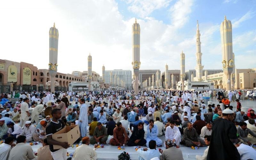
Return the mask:
<path id="1" fill-rule="evenodd" d="M 224 85 L 226 90 L 231 90 L 231 73 L 234 67 L 233 47 L 232 47 L 232 24 L 230 20 L 224 17 L 224 21 L 220 25 L 220 38 L 222 47 L 222 67 L 225 74 Z M 225 88 L 225 86 L 224 86 Z"/>

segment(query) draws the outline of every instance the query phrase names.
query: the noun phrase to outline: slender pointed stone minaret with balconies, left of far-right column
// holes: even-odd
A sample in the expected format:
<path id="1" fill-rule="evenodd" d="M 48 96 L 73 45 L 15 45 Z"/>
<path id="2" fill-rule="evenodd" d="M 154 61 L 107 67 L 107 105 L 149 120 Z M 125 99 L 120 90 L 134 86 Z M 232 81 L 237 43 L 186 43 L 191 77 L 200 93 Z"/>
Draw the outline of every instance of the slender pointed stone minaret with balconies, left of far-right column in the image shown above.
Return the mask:
<path id="1" fill-rule="evenodd" d="M 198 28 L 198 21 L 197 21 L 197 30 L 196 30 L 196 78 L 197 81 L 202 81 L 202 76 L 203 76 L 203 68 L 202 66 L 202 53 L 201 53 L 201 41 L 200 41 L 200 31 Z M 193 81 L 193 80 L 191 80 Z"/>

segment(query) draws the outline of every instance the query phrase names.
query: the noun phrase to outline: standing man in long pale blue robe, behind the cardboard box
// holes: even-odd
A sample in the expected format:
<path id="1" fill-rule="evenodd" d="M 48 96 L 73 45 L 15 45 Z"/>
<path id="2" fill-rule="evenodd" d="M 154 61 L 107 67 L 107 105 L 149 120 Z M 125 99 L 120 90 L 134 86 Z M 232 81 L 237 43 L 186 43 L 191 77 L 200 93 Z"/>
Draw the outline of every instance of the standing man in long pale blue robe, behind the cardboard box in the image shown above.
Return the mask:
<path id="1" fill-rule="evenodd" d="M 85 104 L 84 98 L 80 99 L 80 104 L 81 104 L 81 107 L 80 107 L 78 125 L 79 125 L 80 131 L 81 131 L 81 136 L 85 137 L 86 136 L 86 131 L 87 131 L 86 127 L 88 125 L 88 116 L 87 116 L 88 111 L 87 111 L 87 106 Z"/>

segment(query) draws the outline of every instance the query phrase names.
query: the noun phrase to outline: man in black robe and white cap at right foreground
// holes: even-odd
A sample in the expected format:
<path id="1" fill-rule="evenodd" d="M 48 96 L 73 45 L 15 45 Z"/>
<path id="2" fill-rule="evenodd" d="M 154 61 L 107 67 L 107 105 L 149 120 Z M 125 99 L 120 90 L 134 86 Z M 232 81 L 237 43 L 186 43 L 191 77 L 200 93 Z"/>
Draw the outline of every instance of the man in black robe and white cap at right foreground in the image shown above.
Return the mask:
<path id="1" fill-rule="evenodd" d="M 234 111 L 225 109 L 223 118 L 213 121 L 212 139 L 207 160 L 211 159 L 240 159 L 240 154 L 234 144 L 238 143 L 236 126 L 232 122 L 235 117 Z M 216 154 L 218 153 L 218 154 Z"/>

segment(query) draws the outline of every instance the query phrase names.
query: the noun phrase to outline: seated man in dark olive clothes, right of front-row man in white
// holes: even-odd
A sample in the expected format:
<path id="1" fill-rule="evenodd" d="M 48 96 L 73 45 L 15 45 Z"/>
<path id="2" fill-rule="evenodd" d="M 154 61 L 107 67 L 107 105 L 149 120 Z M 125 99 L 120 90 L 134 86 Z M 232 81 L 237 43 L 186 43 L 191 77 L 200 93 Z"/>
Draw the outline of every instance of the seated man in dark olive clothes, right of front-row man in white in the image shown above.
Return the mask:
<path id="1" fill-rule="evenodd" d="M 203 147 L 204 141 L 198 136 L 196 129 L 193 128 L 192 123 L 188 122 L 188 127 L 184 129 L 183 141 L 187 147 L 201 146 Z"/>

